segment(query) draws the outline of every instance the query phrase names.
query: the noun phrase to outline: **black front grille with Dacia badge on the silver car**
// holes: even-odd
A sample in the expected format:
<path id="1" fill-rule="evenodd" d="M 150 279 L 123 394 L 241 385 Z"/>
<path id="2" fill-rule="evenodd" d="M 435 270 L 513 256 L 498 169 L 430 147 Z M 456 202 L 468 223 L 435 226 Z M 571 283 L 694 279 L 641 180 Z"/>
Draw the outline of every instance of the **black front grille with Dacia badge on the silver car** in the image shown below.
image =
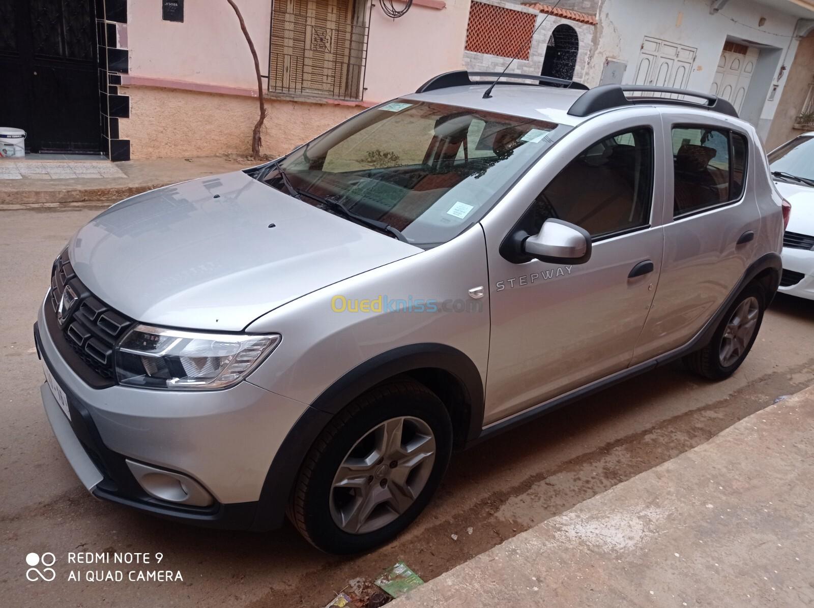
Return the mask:
<path id="1" fill-rule="evenodd" d="M 113 347 L 133 326 L 133 319 L 114 311 L 88 291 L 73 271 L 68 250 L 54 262 L 50 304 L 61 337 L 82 362 L 99 377 L 115 380 Z"/>

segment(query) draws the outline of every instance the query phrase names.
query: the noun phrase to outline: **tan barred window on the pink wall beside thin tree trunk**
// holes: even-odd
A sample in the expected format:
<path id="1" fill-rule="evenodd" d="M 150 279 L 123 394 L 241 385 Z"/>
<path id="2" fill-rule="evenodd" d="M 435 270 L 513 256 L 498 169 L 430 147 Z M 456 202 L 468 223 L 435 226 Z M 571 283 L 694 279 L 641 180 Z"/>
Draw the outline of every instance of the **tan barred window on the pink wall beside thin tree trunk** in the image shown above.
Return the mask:
<path id="1" fill-rule="evenodd" d="M 269 91 L 361 99 L 370 0 L 274 0 Z"/>

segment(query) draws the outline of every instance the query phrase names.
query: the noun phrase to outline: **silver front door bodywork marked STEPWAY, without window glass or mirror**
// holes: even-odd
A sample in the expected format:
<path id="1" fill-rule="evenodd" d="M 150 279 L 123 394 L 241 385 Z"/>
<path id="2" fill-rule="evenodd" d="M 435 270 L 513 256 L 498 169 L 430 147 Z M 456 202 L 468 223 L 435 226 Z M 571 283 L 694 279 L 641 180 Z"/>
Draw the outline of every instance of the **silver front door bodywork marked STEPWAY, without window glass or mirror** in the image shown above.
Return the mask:
<path id="1" fill-rule="evenodd" d="M 663 251 L 663 159 L 660 117 L 628 108 L 590 119 L 558 141 L 481 221 L 488 241 L 492 340 L 485 423 L 496 423 L 628 366 L 645 324 Z M 597 241 L 588 263 L 511 263 L 498 249 L 536 196 L 602 137 L 654 130 L 650 228 Z M 646 276 L 628 278 L 644 260 Z M 535 280 L 535 277 L 537 280 Z M 546 278 L 548 277 L 548 278 Z"/>

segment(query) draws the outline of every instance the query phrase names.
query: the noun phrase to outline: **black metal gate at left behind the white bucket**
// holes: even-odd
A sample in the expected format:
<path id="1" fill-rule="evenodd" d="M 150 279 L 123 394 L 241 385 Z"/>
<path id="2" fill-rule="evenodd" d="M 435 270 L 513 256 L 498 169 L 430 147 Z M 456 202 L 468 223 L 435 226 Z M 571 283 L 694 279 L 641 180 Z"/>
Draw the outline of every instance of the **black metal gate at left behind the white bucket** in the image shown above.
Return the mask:
<path id="1" fill-rule="evenodd" d="M 94 0 L 0 0 L 0 123 L 32 152 L 98 152 Z"/>

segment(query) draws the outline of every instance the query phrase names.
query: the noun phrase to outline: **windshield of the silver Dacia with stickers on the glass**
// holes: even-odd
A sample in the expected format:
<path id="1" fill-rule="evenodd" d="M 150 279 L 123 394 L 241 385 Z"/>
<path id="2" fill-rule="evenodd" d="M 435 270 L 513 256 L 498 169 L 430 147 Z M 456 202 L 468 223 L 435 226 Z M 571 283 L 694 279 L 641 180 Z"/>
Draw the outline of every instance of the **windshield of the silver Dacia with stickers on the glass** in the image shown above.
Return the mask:
<path id="1" fill-rule="evenodd" d="M 304 202 L 430 247 L 479 221 L 570 129 L 400 99 L 300 146 L 259 177 Z"/>

